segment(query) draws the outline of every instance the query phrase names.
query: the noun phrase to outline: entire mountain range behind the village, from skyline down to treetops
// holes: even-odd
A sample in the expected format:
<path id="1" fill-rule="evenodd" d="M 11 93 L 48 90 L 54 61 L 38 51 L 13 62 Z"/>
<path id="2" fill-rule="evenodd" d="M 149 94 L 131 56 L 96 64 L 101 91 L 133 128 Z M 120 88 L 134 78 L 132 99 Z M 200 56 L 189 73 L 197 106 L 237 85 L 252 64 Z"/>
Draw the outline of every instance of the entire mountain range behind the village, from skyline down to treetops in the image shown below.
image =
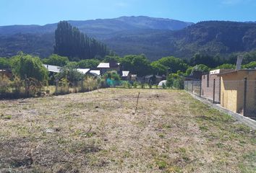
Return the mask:
<path id="1" fill-rule="evenodd" d="M 255 22 L 192 24 L 153 17 L 119 17 L 69 23 L 106 43 L 119 56 L 144 53 L 150 60 L 163 56 L 192 58 L 195 53 L 226 56 L 256 48 Z M 56 24 L 0 27 L 0 56 L 13 56 L 19 50 L 49 56 L 55 29 Z"/>

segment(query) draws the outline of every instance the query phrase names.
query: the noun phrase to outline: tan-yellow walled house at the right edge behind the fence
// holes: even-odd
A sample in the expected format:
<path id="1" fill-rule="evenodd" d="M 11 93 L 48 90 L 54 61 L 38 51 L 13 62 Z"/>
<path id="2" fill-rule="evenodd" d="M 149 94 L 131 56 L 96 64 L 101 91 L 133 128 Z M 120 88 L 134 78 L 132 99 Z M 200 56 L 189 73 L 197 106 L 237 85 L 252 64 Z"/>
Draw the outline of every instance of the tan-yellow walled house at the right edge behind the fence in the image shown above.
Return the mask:
<path id="1" fill-rule="evenodd" d="M 244 116 L 256 117 L 256 69 L 223 72 L 221 106 Z"/>

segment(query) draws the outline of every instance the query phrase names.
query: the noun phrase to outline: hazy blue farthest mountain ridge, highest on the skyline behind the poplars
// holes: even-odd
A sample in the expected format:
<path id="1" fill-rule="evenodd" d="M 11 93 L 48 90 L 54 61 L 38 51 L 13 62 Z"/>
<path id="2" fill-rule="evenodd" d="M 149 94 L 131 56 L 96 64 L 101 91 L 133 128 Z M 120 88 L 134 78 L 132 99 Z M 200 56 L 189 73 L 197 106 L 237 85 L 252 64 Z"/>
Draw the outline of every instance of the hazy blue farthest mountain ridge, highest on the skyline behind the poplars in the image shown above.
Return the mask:
<path id="1" fill-rule="evenodd" d="M 114 19 L 93 19 L 85 21 L 67 21 L 80 31 L 88 33 L 88 35 L 108 35 L 112 32 L 121 30 L 180 30 L 184 27 L 192 25 L 192 22 L 182 22 L 174 19 L 163 19 L 154 17 L 119 17 Z M 0 35 L 14 35 L 17 33 L 43 34 L 54 32 L 57 23 L 47 25 L 10 25 L 0 27 Z"/>

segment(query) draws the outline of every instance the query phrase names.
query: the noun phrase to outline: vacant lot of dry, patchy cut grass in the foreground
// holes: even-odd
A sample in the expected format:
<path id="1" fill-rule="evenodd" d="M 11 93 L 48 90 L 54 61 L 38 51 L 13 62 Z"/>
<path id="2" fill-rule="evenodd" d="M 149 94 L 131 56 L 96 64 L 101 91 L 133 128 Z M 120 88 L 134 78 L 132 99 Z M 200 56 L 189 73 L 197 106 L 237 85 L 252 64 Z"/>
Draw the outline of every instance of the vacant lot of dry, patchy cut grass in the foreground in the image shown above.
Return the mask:
<path id="1" fill-rule="evenodd" d="M 183 91 L 0 101 L 0 172 L 255 171 L 255 131 Z"/>

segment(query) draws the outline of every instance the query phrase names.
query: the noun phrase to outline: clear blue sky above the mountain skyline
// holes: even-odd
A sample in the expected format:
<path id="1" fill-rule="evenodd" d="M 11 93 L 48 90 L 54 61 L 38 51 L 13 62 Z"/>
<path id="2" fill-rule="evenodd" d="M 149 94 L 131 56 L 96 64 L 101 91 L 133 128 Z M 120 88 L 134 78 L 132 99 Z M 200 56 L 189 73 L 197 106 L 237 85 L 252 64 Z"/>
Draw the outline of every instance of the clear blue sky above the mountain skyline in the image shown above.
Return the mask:
<path id="1" fill-rule="evenodd" d="M 140 15 L 187 22 L 256 21 L 256 0 L 0 0 L 0 25 Z"/>

